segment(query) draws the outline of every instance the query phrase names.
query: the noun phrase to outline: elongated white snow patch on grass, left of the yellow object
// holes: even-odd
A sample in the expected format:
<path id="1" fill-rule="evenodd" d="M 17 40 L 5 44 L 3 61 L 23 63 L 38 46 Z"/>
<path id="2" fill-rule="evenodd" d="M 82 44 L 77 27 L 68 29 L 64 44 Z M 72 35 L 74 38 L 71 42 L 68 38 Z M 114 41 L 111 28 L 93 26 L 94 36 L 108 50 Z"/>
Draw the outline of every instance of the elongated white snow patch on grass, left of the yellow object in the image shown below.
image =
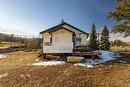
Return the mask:
<path id="1" fill-rule="evenodd" d="M 45 61 L 45 62 L 34 63 L 33 65 L 53 66 L 53 65 L 60 65 L 64 63 L 65 63 L 64 61 Z"/>

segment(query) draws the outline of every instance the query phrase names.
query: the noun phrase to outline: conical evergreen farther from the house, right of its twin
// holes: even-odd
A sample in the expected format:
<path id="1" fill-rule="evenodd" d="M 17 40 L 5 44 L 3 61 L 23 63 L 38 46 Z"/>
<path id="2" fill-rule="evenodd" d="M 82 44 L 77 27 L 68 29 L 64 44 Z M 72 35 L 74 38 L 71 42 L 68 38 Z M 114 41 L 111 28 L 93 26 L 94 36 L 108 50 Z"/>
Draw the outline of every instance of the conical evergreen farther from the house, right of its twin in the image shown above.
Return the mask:
<path id="1" fill-rule="evenodd" d="M 104 26 L 104 29 L 102 30 L 102 33 L 101 33 L 100 49 L 110 50 L 109 31 L 106 25 Z"/>

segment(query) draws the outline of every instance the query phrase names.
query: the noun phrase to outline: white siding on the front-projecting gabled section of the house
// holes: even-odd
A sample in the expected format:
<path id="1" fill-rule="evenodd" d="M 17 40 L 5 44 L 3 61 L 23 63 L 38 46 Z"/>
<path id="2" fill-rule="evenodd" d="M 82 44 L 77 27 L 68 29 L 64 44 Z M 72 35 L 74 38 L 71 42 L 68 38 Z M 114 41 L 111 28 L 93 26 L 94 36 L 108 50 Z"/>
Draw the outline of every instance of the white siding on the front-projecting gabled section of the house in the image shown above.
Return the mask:
<path id="1" fill-rule="evenodd" d="M 45 42 L 50 41 L 48 39 L 50 38 L 50 35 L 44 34 L 43 53 L 72 53 L 73 52 L 72 34 L 73 33 L 65 29 L 60 29 L 51 33 L 52 35 L 51 46 L 45 45 Z"/>

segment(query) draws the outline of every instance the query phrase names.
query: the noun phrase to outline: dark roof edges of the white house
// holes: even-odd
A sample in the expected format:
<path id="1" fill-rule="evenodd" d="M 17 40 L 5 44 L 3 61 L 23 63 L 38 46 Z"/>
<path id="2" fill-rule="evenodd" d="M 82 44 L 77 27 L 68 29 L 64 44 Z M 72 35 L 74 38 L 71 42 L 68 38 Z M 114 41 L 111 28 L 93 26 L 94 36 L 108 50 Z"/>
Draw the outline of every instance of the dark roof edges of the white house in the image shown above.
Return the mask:
<path id="1" fill-rule="evenodd" d="M 76 30 L 78 30 L 78 31 L 80 31 L 80 32 L 82 32 L 82 33 L 88 35 L 88 33 L 84 32 L 84 31 L 82 31 L 82 30 L 80 30 L 80 29 L 78 29 L 78 28 L 76 28 L 76 27 L 74 27 L 74 26 L 72 26 L 72 25 L 70 25 L 70 24 L 68 24 L 68 23 L 66 23 L 66 22 L 62 22 L 62 23 L 59 24 L 59 25 L 56 25 L 56 26 L 54 26 L 54 27 L 52 27 L 52 28 L 49 28 L 49 29 L 47 29 L 47 30 L 44 30 L 44 31 L 40 32 L 40 34 L 43 34 L 43 33 L 45 33 L 45 32 L 53 32 L 53 31 L 58 30 L 58 29 L 60 29 L 60 28 L 64 28 L 64 27 L 62 27 L 63 25 L 68 25 L 68 26 L 72 27 L 73 29 L 76 29 Z M 66 29 L 66 28 L 64 28 L 64 29 Z M 68 30 L 68 29 L 67 29 L 67 30 Z M 71 30 L 68 30 L 68 31 L 73 32 L 73 31 L 71 31 Z"/>

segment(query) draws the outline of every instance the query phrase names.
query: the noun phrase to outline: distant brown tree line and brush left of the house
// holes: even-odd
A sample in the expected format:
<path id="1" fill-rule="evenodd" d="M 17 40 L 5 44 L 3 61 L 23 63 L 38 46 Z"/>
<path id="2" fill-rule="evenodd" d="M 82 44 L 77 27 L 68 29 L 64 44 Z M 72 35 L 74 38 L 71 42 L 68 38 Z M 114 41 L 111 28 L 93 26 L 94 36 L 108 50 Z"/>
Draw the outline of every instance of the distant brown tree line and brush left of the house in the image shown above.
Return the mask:
<path id="1" fill-rule="evenodd" d="M 18 42 L 23 44 L 26 49 L 39 49 L 41 48 L 42 39 L 41 38 L 23 38 L 18 37 L 13 34 L 3 34 L 0 33 L 0 42 Z"/>

